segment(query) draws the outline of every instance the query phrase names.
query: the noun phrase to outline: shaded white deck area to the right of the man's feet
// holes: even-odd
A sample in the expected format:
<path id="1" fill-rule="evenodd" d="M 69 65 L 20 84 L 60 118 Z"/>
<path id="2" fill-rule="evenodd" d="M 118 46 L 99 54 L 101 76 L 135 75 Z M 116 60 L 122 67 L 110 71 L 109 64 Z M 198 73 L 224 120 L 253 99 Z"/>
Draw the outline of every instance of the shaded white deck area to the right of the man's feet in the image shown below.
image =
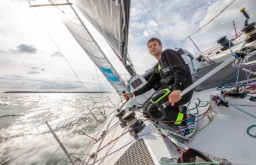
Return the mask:
<path id="1" fill-rule="evenodd" d="M 192 100 L 196 100 L 197 97 L 201 100 L 202 98 L 210 99 L 209 93 L 214 95 L 219 93 L 213 92 L 214 90 L 215 89 L 213 88 L 202 92 L 195 92 Z M 235 105 L 245 105 L 237 107 L 253 116 L 256 116 L 256 102 L 250 101 L 249 98 L 250 97 L 229 97 L 226 99 Z M 214 108 L 214 106 L 215 101 L 212 101 L 212 108 Z M 200 114 L 204 113 L 206 109 L 207 108 L 200 108 Z M 228 108 L 222 105 L 215 106 L 212 111 L 212 115 L 213 120 L 211 123 L 208 118 L 204 118 L 204 120 L 197 123 L 197 132 L 192 136 L 194 141 L 192 141 L 192 143 L 185 144 L 191 148 L 216 156 L 217 158 L 227 159 L 234 164 L 239 162 L 240 164 L 243 164 L 243 162 L 244 164 L 245 162 L 249 162 L 249 164 L 256 164 L 256 138 L 247 134 L 247 128 L 256 124 L 255 117 L 247 115 L 230 105 Z M 199 118 L 197 118 L 197 120 Z M 205 125 L 207 126 L 200 130 Z M 252 128 L 250 133 L 255 136 L 256 128 Z"/>

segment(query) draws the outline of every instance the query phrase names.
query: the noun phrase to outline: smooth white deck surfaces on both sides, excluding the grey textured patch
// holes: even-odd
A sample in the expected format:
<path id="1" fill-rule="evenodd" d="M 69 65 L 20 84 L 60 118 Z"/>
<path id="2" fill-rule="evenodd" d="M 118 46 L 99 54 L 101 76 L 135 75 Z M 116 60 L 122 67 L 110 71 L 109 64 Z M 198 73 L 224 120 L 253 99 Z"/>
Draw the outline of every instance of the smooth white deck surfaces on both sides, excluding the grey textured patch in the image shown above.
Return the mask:
<path id="1" fill-rule="evenodd" d="M 209 101 L 211 93 L 214 93 L 214 95 L 219 93 L 214 92 L 215 90 L 216 88 L 212 88 L 201 92 L 194 92 L 194 96 L 189 105 L 189 108 L 195 107 L 195 103 L 199 102 L 197 98 L 199 98 L 201 101 Z M 247 113 L 256 116 L 256 102 L 250 101 L 249 97 L 227 98 L 227 100 L 236 105 L 247 105 L 239 106 L 239 108 L 242 108 L 242 110 L 247 111 Z M 212 107 L 214 107 L 215 101 L 211 102 Z M 204 104 L 205 103 L 201 103 L 200 105 Z M 199 108 L 199 114 L 204 113 L 207 108 L 208 106 Z M 196 113 L 196 110 L 192 110 L 191 113 Z M 214 157 L 227 159 L 234 164 L 238 164 L 239 162 L 240 164 L 243 164 L 245 162 L 256 164 L 256 138 L 253 138 L 252 136 L 249 136 L 247 134 L 247 128 L 251 125 L 256 124 L 255 118 L 245 114 L 242 111 L 237 110 L 230 105 L 229 108 L 225 106 L 215 106 L 214 110 L 212 111 L 212 115 L 213 120 L 211 123 L 209 123 L 209 119 L 207 117 L 197 123 L 197 131 L 191 137 L 193 141 L 191 143 L 185 142 L 184 144 L 191 148 L 195 148 L 199 151 L 210 154 Z M 136 112 L 136 117 L 144 119 L 142 113 L 138 111 Z M 106 123 L 111 121 L 111 118 L 112 116 Z M 200 117 L 198 117 L 197 120 L 199 118 Z M 119 119 L 114 116 L 114 119 L 111 122 L 112 124 L 109 125 L 109 128 L 117 123 L 117 121 L 119 121 Z M 155 133 L 155 126 L 147 121 L 145 121 L 144 123 L 146 126 L 138 135 L 139 138 L 144 139 L 145 144 L 147 145 L 147 149 L 149 149 L 149 153 L 154 160 L 154 163 L 159 164 L 160 158 L 163 157 L 172 158 L 177 156 L 177 154 L 175 155 L 175 153 L 167 147 L 167 144 L 165 143 L 162 136 Z M 202 129 L 205 125 L 207 126 Z M 104 129 L 105 128 L 102 128 L 101 131 L 103 131 Z M 101 131 L 99 131 L 99 134 L 101 134 Z M 109 133 L 107 133 L 106 137 L 102 140 L 102 142 L 98 141 L 96 144 L 92 144 L 91 149 L 87 151 L 87 154 L 95 153 L 97 149 L 102 148 L 102 146 L 105 146 L 112 139 L 119 137 L 122 133 L 126 131 L 127 130 L 125 130 L 125 128 L 121 128 L 120 125 L 117 125 L 116 128 L 112 129 Z M 250 132 L 256 135 L 256 128 L 252 128 Z M 124 134 L 117 141 L 112 142 L 109 146 L 106 146 L 104 149 L 101 149 L 101 151 L 97 153 L 97 158 L 95 159 L 97 162 L 95 164 L 116 163 L 116 161 L 122 156 L 122 154 L 124 154 L 126 149 L 128 149 L 129 146 L 133 143 L 135 143 L 134 138 L 130 136 L 129 133 Z M 99 144 L 101 144 L 100 147 Z M 126 144 L 128 145 L 125 146 Z M 104 161 L 102 161 L 101 158 L 103 158 L 104 156 L 106 156 L 106 158 L 104 159 Z M 89 157 L 87 156 L 83 160 L 87 161 L 89 160 Z M 92 163 L 92 161 L 93 159 L 91 159 L 89 162 Z"/>

